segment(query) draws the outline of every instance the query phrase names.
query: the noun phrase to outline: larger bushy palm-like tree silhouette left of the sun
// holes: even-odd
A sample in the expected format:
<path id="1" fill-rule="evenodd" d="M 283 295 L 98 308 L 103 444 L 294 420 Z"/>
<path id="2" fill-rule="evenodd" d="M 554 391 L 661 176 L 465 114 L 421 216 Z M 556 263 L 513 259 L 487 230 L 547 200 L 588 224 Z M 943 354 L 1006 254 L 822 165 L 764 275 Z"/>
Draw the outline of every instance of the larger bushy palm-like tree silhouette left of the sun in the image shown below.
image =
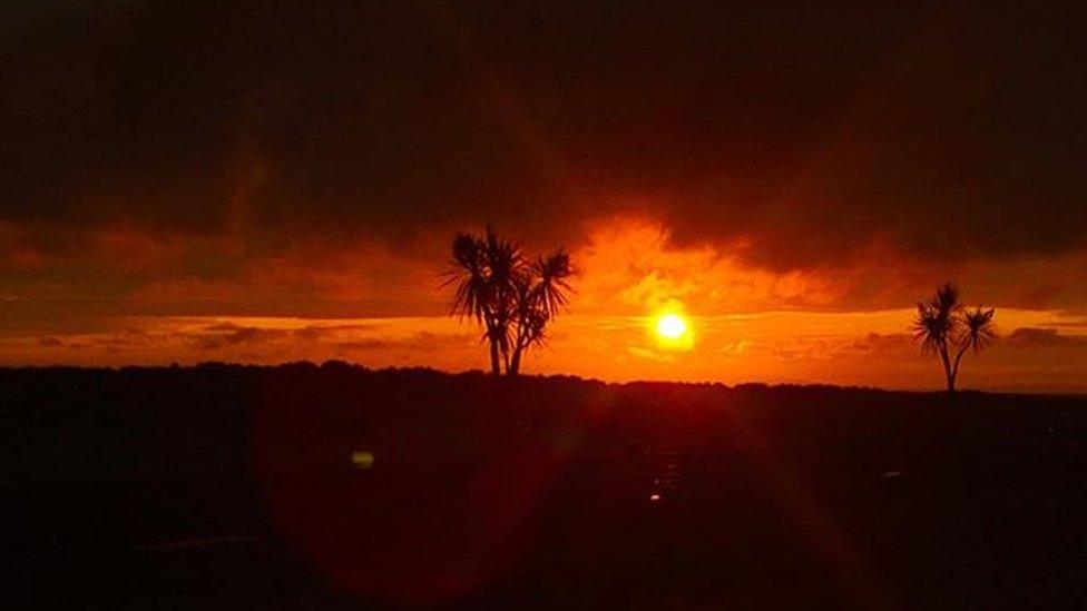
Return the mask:
<path id="1" fill-rule="evenodd" d="M 473 318 L 489 344 L 491 373 L 517 375 L 521 356 L 541 345 L 547 325 L 567 304 L 572 275 L 570 256 L 559 248 L 529 263 L 520 246 L 488 227 L 483 237 L 460 233 L 453 238 L 457 283 L 452 314 Z"/>

